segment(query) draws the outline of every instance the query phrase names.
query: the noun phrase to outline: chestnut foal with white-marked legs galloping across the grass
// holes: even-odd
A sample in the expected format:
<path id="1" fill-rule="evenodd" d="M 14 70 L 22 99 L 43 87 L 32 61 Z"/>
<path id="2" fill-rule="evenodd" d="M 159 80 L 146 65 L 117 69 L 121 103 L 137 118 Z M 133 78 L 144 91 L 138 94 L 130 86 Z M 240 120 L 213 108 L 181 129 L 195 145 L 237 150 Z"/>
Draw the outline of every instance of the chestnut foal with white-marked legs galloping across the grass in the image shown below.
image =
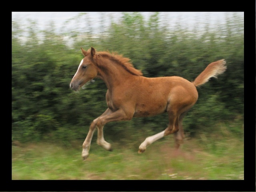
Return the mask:
<path id="1" fill-rule="evenodd" d="M 225 60 L 209 64 L 206 69 L 190 82 L 177 76 L 146 78 L 135 69 L 130 59 L 108 52 L 96 52 L 91 47 L 85 51 L 84 58 L 70 82 L 70 88 L 77 91 L 93 78 L 102 79 L 106 92 L 107 110 L 94 119 L 83 143 L 82 157 L 89 156 L 90 143 L 95 129 L 98 129 L 97 144 L 106 150 L 112 150 L 111 144 L 103 137 L 103 126 L 108 122 L 131 120 L 133 117 L 148 117 L 168 113 L 168 127 L 140 144 L 138 153 L 156 140 L 175 134 L 175 146 L 178 149 L 184 139 L 182 118 L 198 99 L 197 86 L 206 83 L 226 70 Z"/>

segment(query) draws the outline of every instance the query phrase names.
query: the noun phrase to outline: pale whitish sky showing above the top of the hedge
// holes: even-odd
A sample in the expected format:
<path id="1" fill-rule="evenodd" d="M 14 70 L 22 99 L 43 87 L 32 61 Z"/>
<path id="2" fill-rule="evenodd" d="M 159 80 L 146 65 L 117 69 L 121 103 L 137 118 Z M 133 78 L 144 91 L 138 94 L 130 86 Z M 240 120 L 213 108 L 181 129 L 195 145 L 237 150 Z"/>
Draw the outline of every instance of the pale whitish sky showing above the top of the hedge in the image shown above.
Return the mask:
<path id="1" fill-rule="evenodd" d="M 26 23 L 27 19 L 32 19 L 38 22 L 40 29 L 44 29 L 44 26 L 47 26 L 49 21 L 54 21 L 57 30 L 61 28 L 65 21 L 78 16 L 79 13 L 87 13 L 90 17 L 90 20 L 97 26 L 100 21 L 101 12 L 12 12 L 13 19 L 21 19 L 22 22 Z M 141 12 L 146 20 L 149 18 L 152 12 Z M 112 15 L 116 20 L 122 16 L 122 12 L 104 12 L 106 16 Z M 191 25 L 195 22 L 202 24 L 202 26 L 208 22 L 211 24 L 214 23 L 223 23 L 226 12 L 160 12 L 160 19 L 165 22 L 175 23 L 175 20 L 179 20 L 180 24 Z M 239 12 L 239 14 L 244 17 L 244 12 Z M 180 19 L 182 18 L 182 19 Z"/>

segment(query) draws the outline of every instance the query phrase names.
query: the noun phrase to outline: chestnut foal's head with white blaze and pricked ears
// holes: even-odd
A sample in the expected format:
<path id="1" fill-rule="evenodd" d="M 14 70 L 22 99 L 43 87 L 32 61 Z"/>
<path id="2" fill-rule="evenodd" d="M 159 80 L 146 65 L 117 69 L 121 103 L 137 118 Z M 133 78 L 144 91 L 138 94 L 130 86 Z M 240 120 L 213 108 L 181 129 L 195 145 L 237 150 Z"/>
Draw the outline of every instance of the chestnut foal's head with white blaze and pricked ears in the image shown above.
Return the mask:
<path id="1" fill-rule="evenodd" d="M 95 49 L 91 47 L 88 51 L 81 48 L 84 58 L 78 66 L 78 70 L 70 82 L 70 88 L 77 91 L 86 82 L 95 78 L 98 74 L 97 67 L 93 64 Z"/>

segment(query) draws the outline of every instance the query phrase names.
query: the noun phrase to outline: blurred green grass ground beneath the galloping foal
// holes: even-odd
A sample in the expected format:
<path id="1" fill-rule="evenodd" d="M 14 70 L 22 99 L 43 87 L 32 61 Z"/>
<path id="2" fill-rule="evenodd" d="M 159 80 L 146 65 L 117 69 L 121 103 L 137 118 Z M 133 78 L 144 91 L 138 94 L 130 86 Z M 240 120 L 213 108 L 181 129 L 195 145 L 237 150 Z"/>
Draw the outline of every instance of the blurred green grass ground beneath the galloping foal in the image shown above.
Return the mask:
<path id="1" fill-rule="evenodd" d="M 244 180 L 243 138 L 201 134 L 174 151 L 166 137 L 138 154 L 140 142 L 112 143 L 108 152 L 92 142 L 82 161 L 82 142 L 12 146 L 12 180 Z"/>

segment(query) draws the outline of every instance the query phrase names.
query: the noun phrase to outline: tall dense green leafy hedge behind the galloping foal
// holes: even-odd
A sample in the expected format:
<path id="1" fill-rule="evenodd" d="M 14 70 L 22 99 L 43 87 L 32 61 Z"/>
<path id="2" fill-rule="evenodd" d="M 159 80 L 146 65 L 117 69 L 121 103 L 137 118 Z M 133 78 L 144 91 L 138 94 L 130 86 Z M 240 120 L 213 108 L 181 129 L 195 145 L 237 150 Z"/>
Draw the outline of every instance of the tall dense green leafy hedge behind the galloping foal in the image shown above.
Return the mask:
<path id="1" fill-rule="evenodd" d="M 227 16 L 226 22 L 204 32 L 191 31 L 178 24 L 170 30 L 167 24 L 160 25 L 158 13 L 153 13 L 148 21 L 138 12 L 124 13 L 118 22 L 101 29 L 97 37 L 90 30 L 70 31 L 70 40 L 74 42 L 70 45 L 63 40 L 67 33 L 54 32 L 52 22 L 44 31 L 38 30 L 36 22 L 30 22 L 26 28 L 28 36 L 25 36 L 23 23 L 13 20 L 13 139 L 84 138 L 90 122 L 106 110 L 107 88 L 101 80 L 80 92 L 69 88 L 82 59 L 81 46 L 123 54 L 147 77 L 175 75 L 190 81 L 210 62 L 224 58 L 227 71 L 198 88 L 198 102 L 184 118 L 184 127 L 193 134 L 198 130 L 210 131 L 216 122 L 233 121 L 238 116 L 243 122 L 243 20 L 232 15 Z M 132 134 L 138 128 L 159 132 L 167 124 L 168 118 L 163 114 L 106 125 L 104 132 L 106 135 L 128 134 L 125 127 Z"/>

